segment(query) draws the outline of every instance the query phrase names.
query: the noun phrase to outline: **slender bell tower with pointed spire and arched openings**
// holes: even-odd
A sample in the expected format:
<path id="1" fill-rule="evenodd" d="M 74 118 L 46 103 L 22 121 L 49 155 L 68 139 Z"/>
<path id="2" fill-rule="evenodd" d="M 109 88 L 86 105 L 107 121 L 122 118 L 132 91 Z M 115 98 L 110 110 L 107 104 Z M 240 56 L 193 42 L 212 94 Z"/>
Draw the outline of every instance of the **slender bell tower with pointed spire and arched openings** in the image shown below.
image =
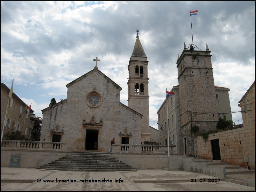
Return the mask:
<path id="1" fill-rule="evenodd" d="M 128 107 L 142 114 L 141 142 L 150 141 L 149 133 L 149 103 L 148 103 L 148 60 L 137 39 L 128 65 Z"/>

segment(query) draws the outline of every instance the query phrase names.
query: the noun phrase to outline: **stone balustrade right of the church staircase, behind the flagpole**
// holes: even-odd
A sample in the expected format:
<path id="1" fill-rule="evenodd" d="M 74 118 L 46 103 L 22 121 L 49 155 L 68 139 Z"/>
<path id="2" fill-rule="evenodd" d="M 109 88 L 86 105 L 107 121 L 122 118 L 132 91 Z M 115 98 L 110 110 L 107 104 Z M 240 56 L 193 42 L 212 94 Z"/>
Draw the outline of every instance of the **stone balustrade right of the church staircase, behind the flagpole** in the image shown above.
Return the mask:
<path id="1" fill-rule="evenodd" d="M 168 153 L 168 145 L 112 145 L 112 153 Z M 176 145 L 170 145 L 170 153 L 176 152 Z"/>

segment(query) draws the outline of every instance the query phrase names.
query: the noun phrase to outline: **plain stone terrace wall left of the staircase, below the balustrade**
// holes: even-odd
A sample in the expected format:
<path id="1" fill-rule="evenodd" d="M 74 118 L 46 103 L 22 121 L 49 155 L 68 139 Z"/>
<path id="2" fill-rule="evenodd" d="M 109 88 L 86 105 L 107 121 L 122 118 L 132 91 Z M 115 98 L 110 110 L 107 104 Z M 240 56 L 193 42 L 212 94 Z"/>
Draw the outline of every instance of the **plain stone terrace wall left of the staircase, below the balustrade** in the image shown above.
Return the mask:
<path id="1" fill-rule="evenodd" d="M 1 149 L 1 167 L 9 167 L 11 155 L 21 155 L 20 167 L 37 168 L 64 157 L 66 152 L 44 149 Z"/>

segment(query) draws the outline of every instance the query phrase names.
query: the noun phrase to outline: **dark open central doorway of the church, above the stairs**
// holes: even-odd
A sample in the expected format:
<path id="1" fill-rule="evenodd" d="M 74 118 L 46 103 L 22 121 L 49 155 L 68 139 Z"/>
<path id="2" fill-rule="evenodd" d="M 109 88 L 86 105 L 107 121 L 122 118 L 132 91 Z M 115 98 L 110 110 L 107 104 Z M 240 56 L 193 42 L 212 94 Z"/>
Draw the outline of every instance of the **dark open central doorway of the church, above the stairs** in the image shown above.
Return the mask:
<path id="1" fill-rule="evenodd" d="M 85 150 L 98 150 L 99 130 L 86 129 Z"/>

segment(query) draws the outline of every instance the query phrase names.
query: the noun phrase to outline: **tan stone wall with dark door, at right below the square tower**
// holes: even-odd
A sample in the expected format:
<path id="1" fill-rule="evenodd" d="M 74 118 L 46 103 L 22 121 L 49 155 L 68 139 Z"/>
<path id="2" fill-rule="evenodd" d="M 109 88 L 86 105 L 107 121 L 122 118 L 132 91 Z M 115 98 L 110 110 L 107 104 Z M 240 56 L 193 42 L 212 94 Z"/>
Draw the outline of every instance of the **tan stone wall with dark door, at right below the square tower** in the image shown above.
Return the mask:
<path id="1" fill-rule="evenodd" d="M 202 136 L 196 137 L 194 143 L 195 147 L 197 145 L 197 156 L 199 158 L 213 160 L 211 140 L 214 139 L 219 139 L 220 162 L 247 168 L 247 163 L 244 162 L 244 157 L 249 157 L 249 166 L 252 169 L 255 169 L 255 128 L 254 132 L 250 132 L 245 127 L 241 127 L 210 134 L 206 143 Z M 253 143 L 254 146 L 252 146 Z"/>

